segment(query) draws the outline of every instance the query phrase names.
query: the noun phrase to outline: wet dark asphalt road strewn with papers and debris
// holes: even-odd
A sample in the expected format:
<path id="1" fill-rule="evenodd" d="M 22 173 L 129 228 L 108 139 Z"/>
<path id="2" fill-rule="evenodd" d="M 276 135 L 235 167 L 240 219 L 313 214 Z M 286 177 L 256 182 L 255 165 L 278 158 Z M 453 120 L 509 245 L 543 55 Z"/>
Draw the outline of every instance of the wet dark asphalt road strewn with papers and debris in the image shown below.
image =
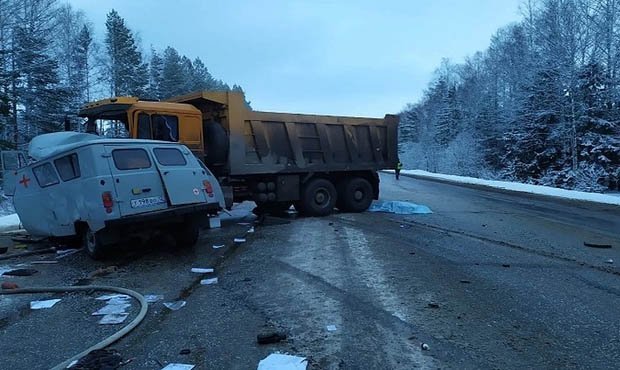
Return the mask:
<path id="1" fill-rule="evenodd" d="M 269 218 L 247 235 L 249 226 L 231 221 L 205 230 L 193 250 L 160 238 L 104 262 L 77 253 L 34 266 L 33 276 L 0 281 L 164 295 L 113 345 L 132 359 L 126 369 L 172 362 L 254 369 L 277 351 L 307 357 L 311 369 L 617 368 L 619 207 L 381 180 L 382 199 L 424 204 L 433 214 Z M 233 244 L 243 235 L 246 243 Z M 37 259 L 51 257 L 0 261 L 0 269 Z M 115 272 L 89 278 L 112 265 Z M 217 284 L 200 285 L 212 276 Z M 29 310 L 31 299 L 55 296 L 2 296 L 0 367 L 50 367 L 119 329 L 90 315 L 101 306 L 98 295 L 58 296 L 56 306 L 39 311 Z M 176 299 L 186 306 L 163 306 Z M 137 311 L 134 302 L 128 320 Z M 256 344 L 258 333 L 272 330 L 287 340 Z"/>

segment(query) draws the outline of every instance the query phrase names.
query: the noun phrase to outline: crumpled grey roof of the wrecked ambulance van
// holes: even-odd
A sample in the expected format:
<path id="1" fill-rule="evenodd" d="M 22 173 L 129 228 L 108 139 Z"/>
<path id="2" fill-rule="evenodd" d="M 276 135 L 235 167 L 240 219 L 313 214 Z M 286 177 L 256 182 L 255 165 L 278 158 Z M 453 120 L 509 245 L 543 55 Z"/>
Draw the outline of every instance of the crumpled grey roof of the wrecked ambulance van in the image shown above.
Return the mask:
<path id="1" fill-rule="evenodd" d="M 80 132 L 54 132 L 36 136 L 30 142 L 28 155 L 40 161 L 61 153 L 65 153 L 77 148 L 88 145 L 127 145 L 127 144 L 157 144 L 157 145 L 177 145 L 183 144 L 146 139 L 110 139 L 102 138 L 97 135 L 84 134 Z"/>

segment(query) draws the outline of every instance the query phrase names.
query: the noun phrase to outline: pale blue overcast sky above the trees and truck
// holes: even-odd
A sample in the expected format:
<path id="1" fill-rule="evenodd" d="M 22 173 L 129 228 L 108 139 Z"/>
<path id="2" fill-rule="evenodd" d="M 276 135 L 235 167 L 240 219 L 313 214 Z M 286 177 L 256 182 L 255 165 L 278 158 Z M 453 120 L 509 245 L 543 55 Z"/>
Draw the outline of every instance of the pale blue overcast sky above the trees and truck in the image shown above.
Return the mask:
<path id="1" fill-rule="evenodd" d="M 520 18 L 521 0 L 69 0 L 103 40 L 116 9 L 145 51 L 170 45 L 239 84 L 255 110 L 383 116 L 417 101 Z"/>

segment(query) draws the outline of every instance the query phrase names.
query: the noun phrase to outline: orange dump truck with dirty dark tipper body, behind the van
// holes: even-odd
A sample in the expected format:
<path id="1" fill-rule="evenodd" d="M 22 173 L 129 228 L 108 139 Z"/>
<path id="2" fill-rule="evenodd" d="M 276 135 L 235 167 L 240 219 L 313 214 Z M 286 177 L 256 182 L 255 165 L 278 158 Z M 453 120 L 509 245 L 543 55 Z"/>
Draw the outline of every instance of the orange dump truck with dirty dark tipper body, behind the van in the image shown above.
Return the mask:
<path id="1" fill-rule="evenodd" d="M 251 200 L 265 212 L 291 205 L 309 216 L 362 212 L 379 197 L 377 171 L 398 162 L 396 115 L 260 112 L 231 91 L 115 97 L 86 104 L 79 115 L 90 131 L 115 121 L 131 138 L 186 145 L 217 177 L 227 207 Z"/>

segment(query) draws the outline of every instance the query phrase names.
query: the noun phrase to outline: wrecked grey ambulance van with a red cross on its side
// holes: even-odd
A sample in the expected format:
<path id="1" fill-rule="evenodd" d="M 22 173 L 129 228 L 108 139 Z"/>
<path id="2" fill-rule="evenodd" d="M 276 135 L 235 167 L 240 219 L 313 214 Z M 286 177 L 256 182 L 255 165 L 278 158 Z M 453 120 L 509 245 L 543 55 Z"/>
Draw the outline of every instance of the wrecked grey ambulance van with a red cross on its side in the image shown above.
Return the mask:
<path id="1" fill-rule="evenodd" d="M 127 232 L 208 219 L 224 205 L 215 177 L 180 144 L 56 133 L 35 138 L 29 155 L 35 162 L 14 171 L 14 204 L 32 235 L 105 229 L 113 243 Z"/>

